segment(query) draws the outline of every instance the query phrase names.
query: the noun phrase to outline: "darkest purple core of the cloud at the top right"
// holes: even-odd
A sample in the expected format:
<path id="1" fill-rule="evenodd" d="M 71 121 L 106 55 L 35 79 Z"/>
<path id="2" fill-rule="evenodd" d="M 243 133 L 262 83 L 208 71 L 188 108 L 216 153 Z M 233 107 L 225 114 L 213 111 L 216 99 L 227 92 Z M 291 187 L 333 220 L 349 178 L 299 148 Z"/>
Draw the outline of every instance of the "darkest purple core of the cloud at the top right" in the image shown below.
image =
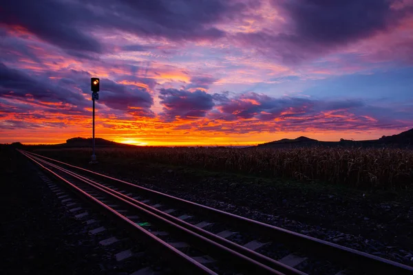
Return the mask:
<path id="1" fill-rule="evenodd" d="M 392 27 L 405 15 L 389 0 L 273 1 L 289 16 L 301 41 L 339 44 L 365 39 Z"/>

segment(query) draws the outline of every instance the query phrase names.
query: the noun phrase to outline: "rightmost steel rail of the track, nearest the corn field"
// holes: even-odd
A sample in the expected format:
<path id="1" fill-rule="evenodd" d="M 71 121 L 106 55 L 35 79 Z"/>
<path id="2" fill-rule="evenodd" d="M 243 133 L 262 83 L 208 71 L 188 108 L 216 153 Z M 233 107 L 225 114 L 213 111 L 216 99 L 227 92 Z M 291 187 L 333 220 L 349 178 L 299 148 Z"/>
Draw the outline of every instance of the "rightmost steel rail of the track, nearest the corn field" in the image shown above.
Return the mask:
<path id="1" fill-rule="evenodd" d="M 87 170 L 85 168 L 81 168 L 78 166 L 74 166 L 72 164 L 67 164 L 65 162 L 52 159 L 50 157 L 44 157 L 42 155 L 35 154 L 35 153 L 31 153 L 31 154 L 37 155 L 39 157 L 43 157 L 44 159 L 50 159 L 52 162 L 57 162 L 59 164 L 69 166 L 77 170 L 81 170 L 83 172 L 89 173 L 94 176 L 101 177 L 103 179 L 110 179 L 117 183 L 123 184 L 124 186 L 127 186 L 128 188 L 134 188 L 134 190 L 139 190 L 140 192 L 144 192 L 146 195 L 149 195 L 151 197 L 158 197 L 159 199 L 162 198 L 166 201 L 171 201 L 171 203 L 179 203 L 180 205 L 184 206 L 187 209 L 202 212 L 208 215 L 209 217 L 212 216 L 212 217 L 218 218 L 224 221 L 225 223 L 228 223 L 230 225 L 236 225 L 238 228 L 243 228 L 244 230 L 248 230 L 249 232 L 253 232 L 255 234 L 260 233 L 262 236 L 269 237 L 273 239 L 274 241 L 282 242 L 284 244 L 298 248 L 299 250 L 304 250 L 310 254 L 316 254 L 318 256 L 322 256 L 325 259 L 328 259 L 329 261 L 332 261 L 335 263 L 341 263 L 347 266 L 349 265 L 349 263 L 362 263 L 361 265 L 357 265 L 357 267 L 368 273 L 376 273 L 376 274 L 386 273 L 386 274 L 402 274 L 402 275 L 413 274 L 413 267 L 409 265 L 403 265 L 402 263 L 396 263 L 394 261 L 383 259 L 381 257 L 374 256 L 366 252 L 360 252 L 358 250 L 353 250 L 352 248 L 346 248 L 342 245 L 337 245 L 335 243 L 330 243 L 328 241 L 316 239 L 311 236 L 306 236 L 304 234 L 299 234 L 297 232 L 286 230 L 284 228 L 278 228 L 274 225 L 269 225 L 266 223 L 262 223 L 260 221 L 254 221 L 252 219 L 247 219 L 245 217 L 241 217 L 236 214 L 224 212 L 222 210 L 211 208 L 209 206 L 203 206 L 199 203 L 187 201 L 185 199 L 180 199 L 178 197 L 173 197 L 171 195 L 158 192 L 156 190 L 151 190 L 149 188 L 138 186 L 136 184 L 131 184 L 127 181 L 123 181 L 121 179 L 116 179 L 114 177 L 109 177 L 107 175 L 96 173 L 94 171 Z"/>

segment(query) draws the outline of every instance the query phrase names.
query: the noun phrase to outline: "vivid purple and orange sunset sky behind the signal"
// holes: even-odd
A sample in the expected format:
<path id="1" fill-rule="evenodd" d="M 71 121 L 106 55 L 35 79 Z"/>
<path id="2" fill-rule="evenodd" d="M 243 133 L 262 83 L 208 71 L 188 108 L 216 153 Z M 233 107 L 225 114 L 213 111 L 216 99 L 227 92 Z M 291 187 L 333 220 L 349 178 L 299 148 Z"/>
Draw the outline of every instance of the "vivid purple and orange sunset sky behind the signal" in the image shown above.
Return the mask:
<path id="1" fill-rule="evenodd" d="M 413 0 L 13 0 L 0 143 L 368 140 L 413 128 Z"/>

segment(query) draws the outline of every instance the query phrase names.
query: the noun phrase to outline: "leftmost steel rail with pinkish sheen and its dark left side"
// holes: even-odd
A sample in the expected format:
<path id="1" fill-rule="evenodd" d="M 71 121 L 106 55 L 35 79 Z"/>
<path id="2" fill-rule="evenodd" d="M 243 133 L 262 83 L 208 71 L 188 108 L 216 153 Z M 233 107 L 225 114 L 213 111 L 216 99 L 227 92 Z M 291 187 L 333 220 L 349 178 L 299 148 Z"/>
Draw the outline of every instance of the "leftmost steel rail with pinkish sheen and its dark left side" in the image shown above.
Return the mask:
<path id="1" fill-rule="evenodd" d="M 21 151 L 21 153 L 23 152 Z M 136 239 L 138 239 L 138 241 L 142 241 L 143 243 L 146 243 L 147 247 L 150 250 L 153 250 L 153 252 L 156 252 L 156 253 L 160 252 L 163 259 L 165 259 L 170 265 L 175 267 L 176 270 L 180 270 L 180 272 L 183 272 L 184 274 L 188 274 L 188 275 L 192 275 L 192 274 L 215 275 L 216 274 L 212 270 L 209 270 L 209 268 L 205 267 L 204 265 L 201 265 L 200 263 L 192 259 L 191 257 L 180 252 L 176 248 L 173 248 L 173 246 L 169 245 L 167 242 L 162 241 L 162 239 L 159 239 L 157 236 L 154 236 L 153 234 L 150 234 L 149 232 L 141 228 L 139 225 L 137 225 L 130 219 L 127 219 L 122 214 L 116 212 L 116 210 L 110 208 L 105 203 L 99 201 L 92 195 L 89 195 L 87 192 L 81 190 L 81 188 L 78 188 L 74 184 L 70 183 L 70 181 L 67 181 L 63 177 L 54 173 L 49 168 L 43 166 L 41 163 L 37 162 L 36 159 L 32 158 L 30 155 L 27 155 L 25 153 L 23 153 L 23 155 L 31 159 L 32 162 L 34 162 L 35 164 L 43 168 L 49 175 L 51 175 L 55 179 L 58 179 L 59 181 L 63 181 L 77 195 L 80 195 L 81 197 L 83 197 L 83 199 L 89 202 L 92 202 L 94 206 L 98 206 L 98 209 L 102 211 L 105 215 L 112 217 L 112 219 L 116 219 L 119 225 L 123 226 L 123 228 L 126 228 L 127 230 L 129 230 L 129 232 L 131 232 L 131 236 L 134 236 Z M 184 270 L 182 270 L 182 266 L 185 267 Z"/>

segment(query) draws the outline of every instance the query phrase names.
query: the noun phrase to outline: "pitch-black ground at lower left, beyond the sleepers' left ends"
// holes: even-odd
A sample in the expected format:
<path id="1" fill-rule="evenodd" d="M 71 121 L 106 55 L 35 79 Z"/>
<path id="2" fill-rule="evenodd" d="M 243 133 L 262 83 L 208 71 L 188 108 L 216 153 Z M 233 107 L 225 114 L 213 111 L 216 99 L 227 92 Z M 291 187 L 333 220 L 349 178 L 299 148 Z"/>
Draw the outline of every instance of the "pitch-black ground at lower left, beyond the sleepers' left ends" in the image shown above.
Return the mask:
<path id="1" fill-rule="evenodd" d="M 102 274 L 104 252 L 83 241 L 87 232 L 63 210 L 35 166 L 1 148 L 0 167 L 0 273 Z"/>

